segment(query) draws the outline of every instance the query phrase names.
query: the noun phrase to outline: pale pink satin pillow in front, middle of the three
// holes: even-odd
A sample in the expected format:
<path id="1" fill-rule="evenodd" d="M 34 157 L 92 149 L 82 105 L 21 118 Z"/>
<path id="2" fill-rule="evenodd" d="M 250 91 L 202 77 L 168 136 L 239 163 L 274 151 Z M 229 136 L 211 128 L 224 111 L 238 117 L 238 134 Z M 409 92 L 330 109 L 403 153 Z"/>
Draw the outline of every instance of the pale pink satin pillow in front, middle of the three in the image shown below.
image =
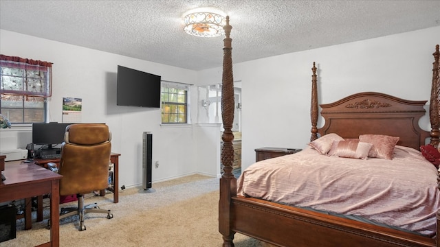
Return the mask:
<path id="1" fill-rule="evenodd" d="M 328 155 L 366 160 L 369 156 L 371 146 L 373 146 L 373 144 L 360 142 L 359 139 L 333 141 Z"/>

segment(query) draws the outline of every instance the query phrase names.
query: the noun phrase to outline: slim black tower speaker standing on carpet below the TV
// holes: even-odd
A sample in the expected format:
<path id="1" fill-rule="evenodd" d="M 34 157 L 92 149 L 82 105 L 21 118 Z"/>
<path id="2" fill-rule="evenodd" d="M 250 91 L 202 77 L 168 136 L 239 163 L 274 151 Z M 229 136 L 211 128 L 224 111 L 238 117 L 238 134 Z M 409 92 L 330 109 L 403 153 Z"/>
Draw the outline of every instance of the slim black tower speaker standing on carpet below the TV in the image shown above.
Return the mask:
<path id="1" fill-rule="evenodd" d="M 151 168 L 153 167 L 153 134 L 142 135 L 142 187 L 151 189 Z"/>

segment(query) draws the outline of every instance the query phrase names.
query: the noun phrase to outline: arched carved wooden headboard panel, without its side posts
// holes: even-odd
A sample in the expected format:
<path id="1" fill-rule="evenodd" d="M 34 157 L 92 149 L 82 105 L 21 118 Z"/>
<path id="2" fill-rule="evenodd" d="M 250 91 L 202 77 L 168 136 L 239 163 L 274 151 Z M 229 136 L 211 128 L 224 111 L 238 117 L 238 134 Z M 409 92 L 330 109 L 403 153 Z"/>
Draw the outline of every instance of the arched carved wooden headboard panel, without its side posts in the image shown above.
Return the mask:
<path id="1" fill-rule="evenodd" d="M 318 129 L 322 136 L 336 133 L 344 138 L 360 134 L 386 134 L 399 137 L 397 145 L 419 149 L 429 132 L 419 127 L 425 115 L 425 101 L 410 101 L 391 95 L 364 92 L 344 97 L 331 104 L 321 104 L 325 125 Z"/>

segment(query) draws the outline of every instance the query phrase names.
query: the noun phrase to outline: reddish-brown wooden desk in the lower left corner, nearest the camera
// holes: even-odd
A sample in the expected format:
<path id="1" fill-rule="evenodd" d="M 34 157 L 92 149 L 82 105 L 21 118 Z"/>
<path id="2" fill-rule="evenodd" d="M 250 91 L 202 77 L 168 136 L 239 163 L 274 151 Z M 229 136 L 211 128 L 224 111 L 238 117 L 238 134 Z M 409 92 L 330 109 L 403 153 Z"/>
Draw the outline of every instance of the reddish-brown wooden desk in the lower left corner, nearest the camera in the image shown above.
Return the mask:
<path id="1" fill-rule="evenodd" d="M 0 158 L 4 164 L 4 158 Z M 63 177 L 33 163 L 7 163 L 6 180 L 0 182 L 0 202 L 50 193 L 50 242 L 40 246 L 60 246 L 59 182 Z"/>

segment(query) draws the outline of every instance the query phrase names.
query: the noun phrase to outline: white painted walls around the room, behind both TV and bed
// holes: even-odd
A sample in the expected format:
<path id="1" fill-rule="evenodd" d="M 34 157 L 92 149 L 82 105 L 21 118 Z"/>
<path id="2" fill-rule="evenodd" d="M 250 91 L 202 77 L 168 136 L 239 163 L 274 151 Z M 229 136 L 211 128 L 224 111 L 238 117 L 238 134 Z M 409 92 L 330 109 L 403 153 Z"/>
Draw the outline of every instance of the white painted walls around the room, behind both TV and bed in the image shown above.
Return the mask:
<path id="1" fill-rule="evenodd" d="M 309 141 L 312 62 L 317 62 L 321 103 L 360 91 L 428 100 L 432 53 L 438 43 L 440 27 L 432 27 L 234 64 L 234 81 L 240 81 L 242 89 L 243 167 L 254 162 L 255 148 L 303 148 Z M 120 64 L 162 75 L 163 80 L 195 84 L 190 108 L 192 122 L 197 123 L 197 110 L 201 106 L 196 85 L 221 83 L 221 68 L 190 71 L 5 30 L 0 30 L 0 53 L 54 62 L 49 120 L 61 121 L 63 97 L 82 98 L 83 122 L 105 122 L 111 128 L 113 152 L 122 154 L 120 185 L 141 183 L 144 131 L 153 132 L 153 162 L 159 161 L 159 168 L 153 168 L 153 182 L 194 172 L 218 174 L 217 125 L 161 127 L 159 110 L 116 106 L 115 83 Z M 421 122 L 429 130 L 428 118 Z M 25 143 L 31 141 L 30 132 L 25 134 L 20 130 L 10 134 L 13 129 L 0 130 L 0 144 L 3 146 L 1 140 L 6 139 L 3 137 L 17 135 L 17 148 L 25 148 Z"/>

